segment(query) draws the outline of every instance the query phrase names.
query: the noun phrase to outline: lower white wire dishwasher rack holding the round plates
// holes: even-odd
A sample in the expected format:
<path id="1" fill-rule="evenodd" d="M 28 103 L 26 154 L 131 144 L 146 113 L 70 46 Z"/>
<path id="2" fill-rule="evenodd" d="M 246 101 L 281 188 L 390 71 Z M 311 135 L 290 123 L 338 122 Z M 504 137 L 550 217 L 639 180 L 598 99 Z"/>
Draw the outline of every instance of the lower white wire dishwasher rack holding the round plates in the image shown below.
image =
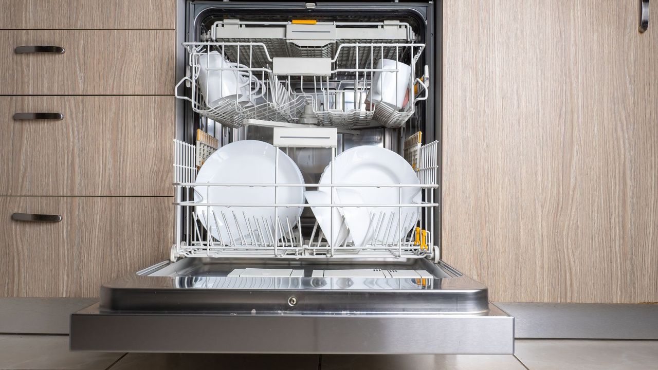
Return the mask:
<path id="1" fill-rule="evenodd" d="M 172 248 L 172 259 L 178 257 L 274 257 L 274 258 L 421 258 L 432 257 L 434 251 L 434 190 L 437 185 L 438 142 L 422 145 L 420 148 L 420 163 L 417 176 L 420 184 L 230 184 L 230 183 L 195 183 L 197 167 L 195 166 L 194 145 L 174 140 L 174 207 L 176 219 L 176 235 Z M 278 151 L 277 151 L 278 155 Z M 332 148 L 333 165 L 336 148 Z M 277 157 L 278 158 L 278 157 Z M 278 159 L 275 161 L 278 171 Z M 422 194 L 420 203 L 398 204 L 348 204 L 338 203 L 332 199 L 330 203 L 263 203 L 263 204 L 228 204 L 207 203 L 194 200 L 195 186 L 205 189 L 227 186 L 250 188 L 275 188 L 287 186 L 318 188 L 318 187 L 390 187 L 402 194 L 405 188 L 419 188 Z M 276 196 L 274 197 L 276 199 Z M 400 196 L 400 199 L 402 197 Z M 198 207 L 198 206 L 201 207 Z M 246 217 L 244 207 L 273 207 L 274 218 L 257 219 Z M 340 245 L 333 245 L 323 234 L 317 221 L 310 225 L 302 225 L 302 220 L 288 219 L 276 216 L 278 209 L 285 207 L 330 207 L 341 210 L 342 207 L 386 207 L 395 209 L 386 213 L 370 213 L 368 230 L 372 230 L 365 244 L 358 247 L 345 238 Z M 403 209 L 417 207 L 420 209 L 418 219 L 408 219 L 403 216 Z M 234 210 L 231 210 L 234 208 Z M 274 222 L 276 220 L 276 222 Z M 275 225 L 276 224 L 276 225 Z M 204 226 L 206 225 L 207 228 Z M 240 226 L 242 225 L 242 226 Z M 401 230 L 411 231 L 403 234 Z M 233 227 L 233 228 L 232 228 Z M 242 230 L 245 228 L 246 230 Z M 339 226 L 351 232 L 343 223 Z M 220 232 L 218 232 L 220 231 Z M 342 230 L 341 230 L 342 231 Z M 222 235 L 227 235 L 228 238 Z M 395 238 L 396 235 L 402 235 Z"/>

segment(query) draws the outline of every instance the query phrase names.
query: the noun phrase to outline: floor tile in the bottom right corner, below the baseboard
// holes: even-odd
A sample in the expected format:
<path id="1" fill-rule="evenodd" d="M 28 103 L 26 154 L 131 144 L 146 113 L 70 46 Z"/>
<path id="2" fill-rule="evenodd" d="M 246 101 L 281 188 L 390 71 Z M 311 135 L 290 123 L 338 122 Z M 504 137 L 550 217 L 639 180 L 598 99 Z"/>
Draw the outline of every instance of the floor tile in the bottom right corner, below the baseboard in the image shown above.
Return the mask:
<path id="1" fill-rule="evenodd" d="M 658 341 L 517 339 L 515 355 L 531 370 L 658 369 Z"/>

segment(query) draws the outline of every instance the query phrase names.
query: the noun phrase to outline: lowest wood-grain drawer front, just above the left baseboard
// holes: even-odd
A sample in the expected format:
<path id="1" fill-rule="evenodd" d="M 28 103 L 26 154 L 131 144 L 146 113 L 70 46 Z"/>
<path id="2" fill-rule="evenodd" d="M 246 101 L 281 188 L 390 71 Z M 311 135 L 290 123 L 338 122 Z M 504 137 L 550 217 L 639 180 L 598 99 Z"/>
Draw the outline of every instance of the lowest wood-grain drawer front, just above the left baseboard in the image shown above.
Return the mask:
<path id="1" fill-rule="evenodd" d="M 1 197 L 0 296 L 97 297 L 102 282 L 168 257 L 171 203 L 168 197 Z M 13 219 L 49 218 L 34 214 L 53 222 Z"/>

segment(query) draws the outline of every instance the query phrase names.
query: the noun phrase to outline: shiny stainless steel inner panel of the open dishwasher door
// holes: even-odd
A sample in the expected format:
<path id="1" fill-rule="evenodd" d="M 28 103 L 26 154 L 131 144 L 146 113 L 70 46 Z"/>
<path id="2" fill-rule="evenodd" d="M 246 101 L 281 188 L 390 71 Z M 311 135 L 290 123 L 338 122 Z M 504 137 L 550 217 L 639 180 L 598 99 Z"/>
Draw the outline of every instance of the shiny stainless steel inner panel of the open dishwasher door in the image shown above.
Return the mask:
<path id="1" fill-rule="evenodd" d="M 425 270 L 433 278 L 311 277 L 318 269 Z M 235 269 L 300 269 L 304 277 L 228 277 Z M 486 314 L 487 289 L 428 259 L 322 260 L 184 258 L 101 288 L 101 311 Z M 288 299 L 294 296 L 297 304 Z"/>

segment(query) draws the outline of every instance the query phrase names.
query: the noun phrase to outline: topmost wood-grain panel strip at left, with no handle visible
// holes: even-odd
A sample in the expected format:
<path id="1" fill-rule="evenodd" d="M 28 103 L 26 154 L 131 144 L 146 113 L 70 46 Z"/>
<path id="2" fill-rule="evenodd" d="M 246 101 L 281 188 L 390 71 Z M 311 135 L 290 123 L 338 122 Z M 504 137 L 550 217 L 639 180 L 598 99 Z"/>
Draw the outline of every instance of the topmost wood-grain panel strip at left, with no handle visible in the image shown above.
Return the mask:
<path id="1" fill-rule="evenodd" d="M 176 0 L 0 0 L 2 28 L 170 29 Z"/>

